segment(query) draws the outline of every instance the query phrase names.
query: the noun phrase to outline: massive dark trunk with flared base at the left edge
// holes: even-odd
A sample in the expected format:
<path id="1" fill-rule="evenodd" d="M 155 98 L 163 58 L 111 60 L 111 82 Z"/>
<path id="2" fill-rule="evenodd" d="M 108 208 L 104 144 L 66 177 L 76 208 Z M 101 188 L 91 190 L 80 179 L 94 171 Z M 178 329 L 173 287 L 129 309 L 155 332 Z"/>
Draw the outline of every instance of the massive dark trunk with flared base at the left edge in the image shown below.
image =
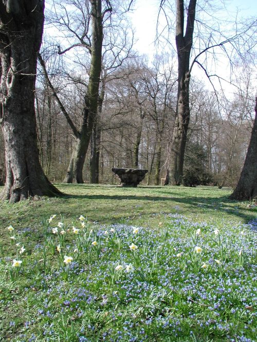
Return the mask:
<path id="1" fill-rule="evenodd" d="M 0 122 L 6 157 L 1 198 L 12 203 L 29 196 L 61 194 L 42 170 L 36 141 L 35 74 L 44 1 L 24 4 L 0 2 Z"/>

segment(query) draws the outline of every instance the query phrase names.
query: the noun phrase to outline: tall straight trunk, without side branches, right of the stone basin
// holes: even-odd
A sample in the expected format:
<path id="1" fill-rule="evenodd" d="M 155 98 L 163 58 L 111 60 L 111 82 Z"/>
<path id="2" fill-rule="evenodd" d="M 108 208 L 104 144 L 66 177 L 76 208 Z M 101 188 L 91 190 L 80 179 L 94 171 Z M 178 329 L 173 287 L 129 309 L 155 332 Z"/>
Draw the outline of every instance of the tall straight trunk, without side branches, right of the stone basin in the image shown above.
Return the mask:
<path id="1" fill-rule="evenodd" d="M 190 53 L 193 42 L 196 0 L 190 0 L 187 14 L 187 27 L 184 36 L 184 1 L 176 0 L 176 48 L 178 56 L 178 91 L 175 125 L 173 129 L 169 183 L 180 185 L 183 176 L 183 163 L 190 120 L 189 82 Z"/>

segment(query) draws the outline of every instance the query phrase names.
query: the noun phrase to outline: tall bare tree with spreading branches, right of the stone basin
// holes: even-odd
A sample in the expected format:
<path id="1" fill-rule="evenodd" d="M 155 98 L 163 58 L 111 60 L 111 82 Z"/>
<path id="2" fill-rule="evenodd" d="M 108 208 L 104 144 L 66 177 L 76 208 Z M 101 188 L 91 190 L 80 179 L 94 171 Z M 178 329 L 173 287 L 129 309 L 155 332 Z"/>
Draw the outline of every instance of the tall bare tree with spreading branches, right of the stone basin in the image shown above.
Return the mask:
<path id="1" fill-rule="evenodd" d="M 237 23 L 233 33 L 222 32 L 218 19 L 211 14 L 211 6 L 210 2 L 190 0 L 187 5 L 184 0 L 176 0 L 175 40 L 178 64 L 178 91 L 169 169 L 170 184 L 173 185 L 180 185 L 183 175 L 183 159 L 190 122 L 189 85 L 193 66 L 198 65 L 208 76 L 214 87 L 212 77 L 217 75 L 215 72 L 214 74 L 208 72 L 208 65 L 212 64 L 210 61 L 215 62 L 216 50 L 220 49 L 222 54 L 228 57 L 232 66 L 234 55 L 245 58 L 246 54 L 250 53 L 255 45 L 252 39 L 256 27 L 255 20 L 242 25 Z M 172 19 L 168 15 L 168 10 L 172 11 L 170 2 L 161 0 L 160 9 L 163 10 L 169 24 L 169 31 L 171 31 Z M 201 13 L 209 16 L 213 25 L 204 23 L 203 16 L 200 17 Z M 197 18 L 196 14 L 198 14 Z M 197 32 L 194 33 L 196 24 Z M 229 34 L 229 37 L 227 37 L 227 34 Z M 167 40 L 169 41 L 169 38 Z M 228 46 L 231 49 L 228 49 Z M 211 55 L 212 59 L 208 58 L 208 55 Z M 218 79 L 220 81 L 223 78 L 218 76 Z"/>

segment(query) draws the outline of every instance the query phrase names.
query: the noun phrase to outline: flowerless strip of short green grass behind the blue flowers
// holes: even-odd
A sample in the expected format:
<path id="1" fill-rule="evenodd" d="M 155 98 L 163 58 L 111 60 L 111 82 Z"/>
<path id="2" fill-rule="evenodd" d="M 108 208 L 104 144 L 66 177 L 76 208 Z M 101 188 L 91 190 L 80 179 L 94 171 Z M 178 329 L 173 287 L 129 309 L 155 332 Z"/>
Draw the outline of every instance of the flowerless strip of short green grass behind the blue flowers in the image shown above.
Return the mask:
<path id="1" fill-rule="evenodd" d="M 155 187 L 119 188 L 104 185 L 66 185 L 57 187 L 67 194 L 64 198 L 29 200 L 15 205 L 0 202 L 0 224 L 17 227 L 38 225 L 43 217 L 56 212 L 66 219 L 81 213 L 90 222 L 103 224 L 127 222 L 156 226 L 163 214 L 180 213 L 193 221 L 247 223 L 257 209 L 246 202 L 228 200 L 229 189 L 216 187 Z M 156 217 L 157 216 L 157 217 Z"/>

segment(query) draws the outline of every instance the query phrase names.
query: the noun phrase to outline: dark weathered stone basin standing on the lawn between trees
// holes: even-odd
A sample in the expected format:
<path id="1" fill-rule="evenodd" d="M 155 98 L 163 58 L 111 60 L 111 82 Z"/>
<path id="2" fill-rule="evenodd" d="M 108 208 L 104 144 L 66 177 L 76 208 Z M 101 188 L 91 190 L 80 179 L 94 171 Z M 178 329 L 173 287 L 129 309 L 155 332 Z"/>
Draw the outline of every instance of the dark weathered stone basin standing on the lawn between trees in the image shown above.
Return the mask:
<path id="1" fill-rule="evenodd" d="M 148 170 L 112 168 L 114 174 L 120 178 L 121 187 L 134 187 L 144 179 Z"/>

